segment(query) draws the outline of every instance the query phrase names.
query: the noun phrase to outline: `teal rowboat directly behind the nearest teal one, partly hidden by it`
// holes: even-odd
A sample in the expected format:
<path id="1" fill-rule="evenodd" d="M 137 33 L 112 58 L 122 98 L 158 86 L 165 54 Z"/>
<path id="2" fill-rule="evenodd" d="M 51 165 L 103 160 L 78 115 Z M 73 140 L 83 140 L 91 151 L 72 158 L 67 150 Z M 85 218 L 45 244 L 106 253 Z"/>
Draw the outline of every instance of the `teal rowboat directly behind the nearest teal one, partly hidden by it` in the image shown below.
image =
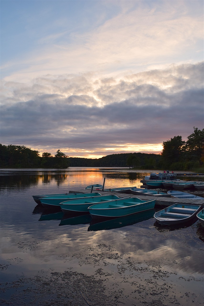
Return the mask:
<path id="1" fill-rule="evenodd" d="M 108 196 L 93 196 L 83 199 L 75 199 L 69 200 L 60 203 L 61 210 L 66 214 L 69 212 L 88 212 L 88 207 L 92 204 L 106 202 L 106 201 L 113 201 L 121 199 L 119 196 L 115 196 L 110 194 Z"/>

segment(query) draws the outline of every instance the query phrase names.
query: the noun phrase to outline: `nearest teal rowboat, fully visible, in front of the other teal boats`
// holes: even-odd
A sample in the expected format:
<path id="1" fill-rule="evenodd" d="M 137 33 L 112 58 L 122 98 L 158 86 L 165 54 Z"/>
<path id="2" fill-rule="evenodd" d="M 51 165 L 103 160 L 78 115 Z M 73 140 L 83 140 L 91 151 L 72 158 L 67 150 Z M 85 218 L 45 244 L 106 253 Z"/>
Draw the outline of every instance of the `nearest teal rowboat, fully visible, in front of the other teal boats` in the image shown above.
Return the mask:
<path id="1" fill-rule="evenodd" d="M 155 200 L 126 198 L 94 204 L 88 207 L 88 210 L 92 218 L 118 218 L 153 209 L 154 205 Z"/>

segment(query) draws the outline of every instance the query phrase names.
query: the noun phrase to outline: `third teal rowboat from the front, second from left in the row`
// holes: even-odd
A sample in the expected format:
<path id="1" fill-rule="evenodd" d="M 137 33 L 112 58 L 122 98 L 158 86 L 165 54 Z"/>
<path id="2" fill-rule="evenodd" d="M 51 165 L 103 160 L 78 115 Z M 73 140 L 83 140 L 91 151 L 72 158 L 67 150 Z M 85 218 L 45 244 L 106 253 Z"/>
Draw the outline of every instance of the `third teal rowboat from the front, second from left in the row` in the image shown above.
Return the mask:
<path id="1" fill-rule="evenodd" d="M 47 196 L 46 198 L 41 198 L 40 202 L 45 208 L 54 208 L 60 207 L 61 202 L 65 202 L 71 199 L 78 199 L 78 198 L 87 198 L 93 196 L 101 196 L 100 193 L 69 193 L 66 196 Z"/>

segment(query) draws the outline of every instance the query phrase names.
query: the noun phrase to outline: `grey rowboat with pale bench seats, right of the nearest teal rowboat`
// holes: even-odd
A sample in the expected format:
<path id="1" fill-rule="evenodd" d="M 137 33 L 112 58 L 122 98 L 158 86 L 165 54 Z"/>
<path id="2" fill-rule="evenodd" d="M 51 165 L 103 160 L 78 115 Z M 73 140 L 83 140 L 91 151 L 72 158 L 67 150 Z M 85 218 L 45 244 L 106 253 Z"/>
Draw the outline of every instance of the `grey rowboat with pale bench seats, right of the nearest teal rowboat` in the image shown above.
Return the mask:
<path id="1" fill-rule="evenodd" d="M 173 204 L 154 214 L 154 218 L 160 225 L 179 225 L 187 223 L 196 217 L 202 209 L 200 205 Z"/>

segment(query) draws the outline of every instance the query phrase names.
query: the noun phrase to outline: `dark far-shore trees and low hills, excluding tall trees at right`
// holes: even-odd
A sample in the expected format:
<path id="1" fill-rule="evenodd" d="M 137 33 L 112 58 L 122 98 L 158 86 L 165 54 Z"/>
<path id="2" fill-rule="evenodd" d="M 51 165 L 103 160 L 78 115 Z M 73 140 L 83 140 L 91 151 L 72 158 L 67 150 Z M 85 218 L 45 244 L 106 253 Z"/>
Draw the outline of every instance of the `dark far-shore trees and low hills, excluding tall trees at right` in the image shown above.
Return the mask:
<path id="1" fill-rule="evenodd" d="M 107 155 L 99 159 L 88 159 L 69 157 L 57 150 L 56 155 L 43 152 L 42 157 L 39 151 L 32 150 L 25 146 L 2 145 L 0 144 L 0 167 L 1 168 L 68 168 L 68 167 L 127 167 L 136 166 L 141 169 L 159 167 L 161 156 L 158 154 L 146 153 L 122 153 Z M 128 162 L 128 160 L 130 162 Z"/>

